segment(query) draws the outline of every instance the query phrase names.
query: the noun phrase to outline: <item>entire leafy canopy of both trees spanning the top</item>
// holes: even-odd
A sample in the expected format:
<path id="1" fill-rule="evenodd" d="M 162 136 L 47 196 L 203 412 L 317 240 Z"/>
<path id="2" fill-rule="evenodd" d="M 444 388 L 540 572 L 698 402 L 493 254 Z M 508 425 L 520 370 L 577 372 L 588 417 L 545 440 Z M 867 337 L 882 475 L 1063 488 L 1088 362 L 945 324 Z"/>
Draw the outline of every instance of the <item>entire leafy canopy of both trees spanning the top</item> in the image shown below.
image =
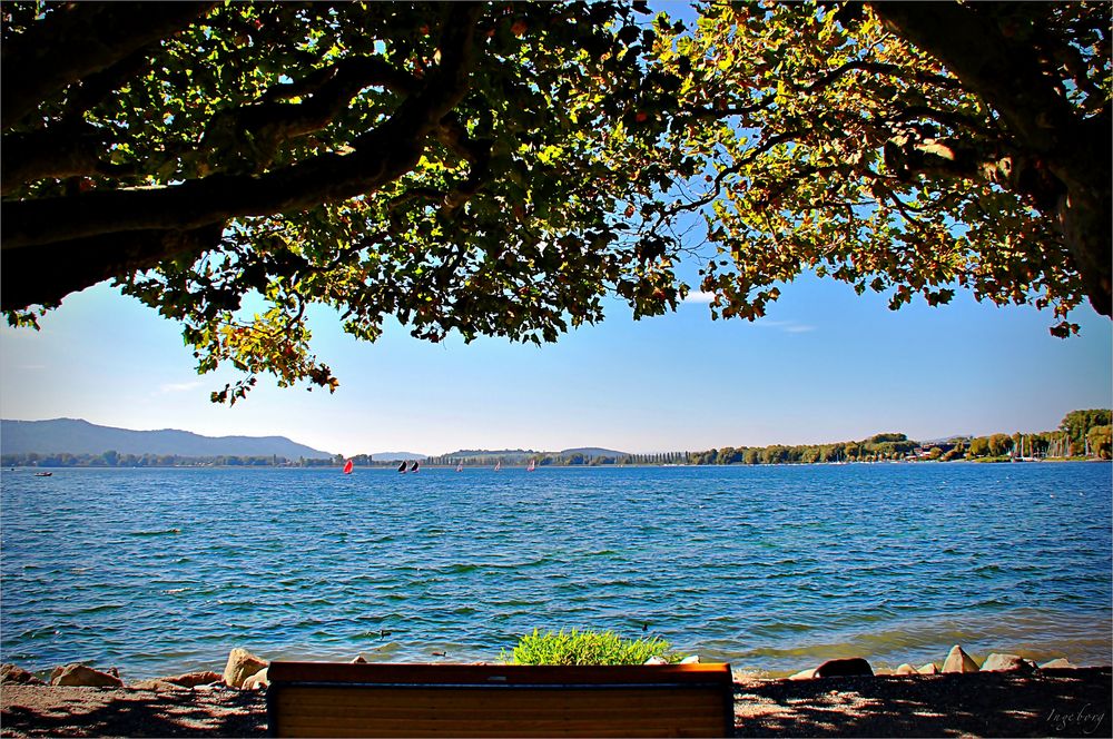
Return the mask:
<path id="1" fill-rule="evenodd" d="M 807 269 L 1110 315 L 1110 6 L 922 8 L 6 2 L 0 302 L 115 280 L 232 402 L 336 386 L 313 304 L 551 342 L 688 252 L 716 316 Z"/>

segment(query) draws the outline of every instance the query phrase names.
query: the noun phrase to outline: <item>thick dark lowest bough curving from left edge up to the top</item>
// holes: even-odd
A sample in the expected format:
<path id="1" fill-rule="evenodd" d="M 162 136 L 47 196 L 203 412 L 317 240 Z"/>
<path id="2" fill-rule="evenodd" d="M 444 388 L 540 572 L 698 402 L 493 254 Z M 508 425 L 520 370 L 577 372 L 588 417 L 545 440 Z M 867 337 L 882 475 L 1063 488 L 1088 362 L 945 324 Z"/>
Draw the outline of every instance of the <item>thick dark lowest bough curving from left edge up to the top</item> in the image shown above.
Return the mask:
<path id="1" fill-rule="evenodd" d="M 50 274 L 52 265 L 82 249 L 98 253 L 117 240 L 129 248 L 141 247 L 142 260 L 125 255 L 112 263 L 107 276 L 118 276 L 142 268 L 140 262 L 150 264 L 148 258 L 157 263 L 159 255 L 169 256 L 177 247 L 167 244 L 170 237 L 162 231 L 183 234 L 223 226 L 239 216 L 304 210 L 382 188 L 416 166 L 429 136 L 466 93 L 480 10 L 476 3 L 445 7 L 442 66 L 391 118 L 356 138 L 353 154 L 319 155 L 257 176 L 214 175 L 157 189 L 93 190 L 66 198 L 4 201 L 0 215 L 6 285 L 19 282 L 21 275 L 26 280 L 28 275 Z M 194 239 L 185 248 L 199 255 L 208 247 Z M 85 284 L 69 284 L 65 292 L 93 285 L 106 276 L 106 270 L 87 272 Z M 6 290 L 3 302 L 11 309 L 56 299 L 58 294 L 59 289 L 39 285 L 33 294 Z"/>

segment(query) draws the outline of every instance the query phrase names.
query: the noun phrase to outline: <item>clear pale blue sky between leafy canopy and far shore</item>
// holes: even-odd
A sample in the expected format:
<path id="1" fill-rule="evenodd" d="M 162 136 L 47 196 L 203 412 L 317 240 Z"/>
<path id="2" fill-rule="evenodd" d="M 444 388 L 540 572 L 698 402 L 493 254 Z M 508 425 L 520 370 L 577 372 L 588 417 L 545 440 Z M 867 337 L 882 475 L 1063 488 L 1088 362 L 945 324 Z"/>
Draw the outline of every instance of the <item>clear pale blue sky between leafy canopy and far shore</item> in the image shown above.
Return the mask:
<path id="1" fill-rule="evenodd" d="M 914 439 L 1045 431 L 1113 405 L 1113 324 L 1089 306 L 1082 335 L 1052 316 L 959 293 L 892 312 L 883 296 L 807 277 L 756 323 L 712 322 L 698 302 L 608 318 L 556 344 L 433 345 L 396 323 L 375 344 L 313 315 L 333 394 L 260 381 L 235 407 L 197 376 L 175 324 L 106 285 L 68 297 L 41 332 L 0 329 L 4 418 L 81 417 L 127 428 L 283 435 L 332 453 L 605 446 L 631 452 L 812 443 L 900 431 Z"/>

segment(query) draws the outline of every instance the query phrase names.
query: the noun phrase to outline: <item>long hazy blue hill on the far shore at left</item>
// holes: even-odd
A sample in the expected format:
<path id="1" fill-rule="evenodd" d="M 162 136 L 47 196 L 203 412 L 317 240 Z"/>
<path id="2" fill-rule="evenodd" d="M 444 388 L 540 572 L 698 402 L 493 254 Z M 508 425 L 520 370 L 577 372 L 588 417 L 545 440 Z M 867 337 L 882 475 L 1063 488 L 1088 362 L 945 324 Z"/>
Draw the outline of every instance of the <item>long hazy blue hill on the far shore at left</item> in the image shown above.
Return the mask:
<path id="1" fill-rule="evenodd" d="M 201 436 L 188 431 L 130 431 L 79 418 L 0 421 L 6 454 L 177 454 L 178 456 L 284 456 L 326 459 L 332 454 L 285 436 Z"/>

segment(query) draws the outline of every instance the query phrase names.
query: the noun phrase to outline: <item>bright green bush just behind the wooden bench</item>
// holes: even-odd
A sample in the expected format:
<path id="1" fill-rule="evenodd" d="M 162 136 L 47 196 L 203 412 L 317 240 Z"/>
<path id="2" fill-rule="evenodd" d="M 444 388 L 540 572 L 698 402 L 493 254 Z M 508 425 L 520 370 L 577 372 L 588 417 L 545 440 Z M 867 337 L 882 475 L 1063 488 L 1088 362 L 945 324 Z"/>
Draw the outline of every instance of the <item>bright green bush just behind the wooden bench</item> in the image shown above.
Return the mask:
<path id="1" fill-rule="evenodd" d="M 681 657 L 669 651 L 671 646 L 657 637 L 631 641 L 613 631 L 541 633 L 534 629 L 518 641 L 513 652 L 503 650 L 500 659 L 511 664 L 643 664 L 650 657 L 679 662 Z"/>

